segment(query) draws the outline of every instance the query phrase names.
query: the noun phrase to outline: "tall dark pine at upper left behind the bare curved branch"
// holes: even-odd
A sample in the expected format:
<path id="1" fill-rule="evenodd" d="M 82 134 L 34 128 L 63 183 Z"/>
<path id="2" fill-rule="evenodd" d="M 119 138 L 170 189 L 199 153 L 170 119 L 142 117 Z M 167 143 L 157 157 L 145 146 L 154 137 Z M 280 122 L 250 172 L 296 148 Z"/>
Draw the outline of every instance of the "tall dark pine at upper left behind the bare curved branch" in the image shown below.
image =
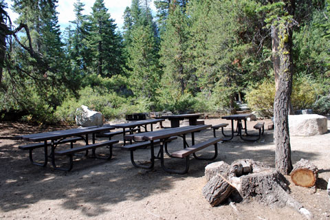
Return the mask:
<path id="1" fill-rule="evenodd" d="M 43 54 L 43 58 L 47 62 L 47 67 L 45 67 L 48 70 L 47 78 L 52 80 L 53 85 L 58 83 L 58 86 L 61 86 L 63 83 L 69 83 L 69 80 L 67 80 L 67 63 L 58 25 L 57 2 L 57 0 L 29 2 L 14 0 L 14 10 L 20 15 L 17 23 L 25 23 L 30 29 L 32 47 L 39 54 Z M 41 70 L 41 65 L 38 67 Z"/>

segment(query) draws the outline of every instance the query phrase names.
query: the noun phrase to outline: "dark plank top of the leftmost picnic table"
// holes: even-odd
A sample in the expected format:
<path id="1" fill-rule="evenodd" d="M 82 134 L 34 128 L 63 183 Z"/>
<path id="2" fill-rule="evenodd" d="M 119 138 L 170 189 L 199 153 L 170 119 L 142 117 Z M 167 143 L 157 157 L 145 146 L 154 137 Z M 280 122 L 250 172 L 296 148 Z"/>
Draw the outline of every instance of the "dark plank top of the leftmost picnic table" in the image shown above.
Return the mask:
<path id="1" fill-rule="evenodd" d="M 42 142 L 45 140 L 58 140 L 65 137 L 86 135 L 89 133 L 100 133 L 104 131 L 109 131 L 115 129 L 113 126 L 91 126 L 83 127 L 78 129 L 68 129 L 60 131 L 50 131 L 45 133 L 34 133 L 30 135 L 20 136 L 23 140 L 33 141 L 33 142 Z"/>

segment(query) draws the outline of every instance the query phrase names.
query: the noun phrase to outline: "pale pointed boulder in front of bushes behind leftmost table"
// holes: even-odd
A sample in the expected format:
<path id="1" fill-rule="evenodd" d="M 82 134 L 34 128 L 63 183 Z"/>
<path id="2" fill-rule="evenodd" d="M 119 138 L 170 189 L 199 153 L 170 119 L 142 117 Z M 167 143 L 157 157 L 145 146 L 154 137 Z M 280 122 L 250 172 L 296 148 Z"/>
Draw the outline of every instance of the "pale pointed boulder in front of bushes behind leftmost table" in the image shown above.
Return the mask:
<path id="1" fill-rule="evenodd" d="M 104 116 L 98 111 L 93 111 L 82 105 L 76 110 L 76 124 L 78 126 L 102 126 Z"/>

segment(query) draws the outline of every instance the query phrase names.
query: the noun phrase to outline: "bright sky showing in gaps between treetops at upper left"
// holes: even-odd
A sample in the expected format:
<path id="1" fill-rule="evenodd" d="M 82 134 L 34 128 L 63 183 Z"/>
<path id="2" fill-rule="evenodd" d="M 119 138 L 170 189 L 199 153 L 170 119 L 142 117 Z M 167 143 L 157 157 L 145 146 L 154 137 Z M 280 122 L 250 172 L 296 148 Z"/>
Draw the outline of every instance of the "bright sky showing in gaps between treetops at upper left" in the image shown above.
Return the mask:
<path id="1" fill-rule="evenodd" d="M 8 5 L 11 5 L 10 0 L 5 0 Z M 74 21 L 74 3 L 76 0 L 58 0 L 58 24 L 61 25 L 61 30 L 63 30 L 69 25 L 69 21 Z M 80 0 L 80 2 L 85 4 L 85 13 L 89 14 L 91 12 L 91 7 L 94 5 L 94 0 Z M 124 19 L 122 15 L 126 6 L 131 6 L 131 0 L 104 0 L 104 5 L 108 9 L 112 19 L 115 19 L 115 23 L 118 28 L 122 27 Z M 10 8 L 10 7 L 9 7 Z M 151 10 L 155 11 L 155 6 L 153 5 L 153 0 L 151 3 Z M 17 18 L 17 14 L 14 14 L 11 10 L 10 18 L 14 21 Z"/>

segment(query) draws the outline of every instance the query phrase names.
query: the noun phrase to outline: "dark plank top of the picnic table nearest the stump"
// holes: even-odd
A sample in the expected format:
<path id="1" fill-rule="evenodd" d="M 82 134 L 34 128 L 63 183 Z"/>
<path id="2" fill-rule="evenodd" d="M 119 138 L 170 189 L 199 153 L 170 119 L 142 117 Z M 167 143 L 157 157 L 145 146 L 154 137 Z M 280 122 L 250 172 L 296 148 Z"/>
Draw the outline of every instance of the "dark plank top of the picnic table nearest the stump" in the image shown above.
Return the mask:
<path id="1" fill-rule="evenodd" d="M 171 129 L 162 129 L 157 131 L 150 131 L 146 133 L 137 133 L 133 135 L 134 140 L 158 140 L 158 139 L 164 139 L 167 137 L 182 135 L 186 133 L 191 133 L 195 131 L 201 131 L 203 129 L 210 128 L 210 124 L 206 125 L 192 125 L 192 126 L 181 126 L 177 128 L 171 128 Z"/>

